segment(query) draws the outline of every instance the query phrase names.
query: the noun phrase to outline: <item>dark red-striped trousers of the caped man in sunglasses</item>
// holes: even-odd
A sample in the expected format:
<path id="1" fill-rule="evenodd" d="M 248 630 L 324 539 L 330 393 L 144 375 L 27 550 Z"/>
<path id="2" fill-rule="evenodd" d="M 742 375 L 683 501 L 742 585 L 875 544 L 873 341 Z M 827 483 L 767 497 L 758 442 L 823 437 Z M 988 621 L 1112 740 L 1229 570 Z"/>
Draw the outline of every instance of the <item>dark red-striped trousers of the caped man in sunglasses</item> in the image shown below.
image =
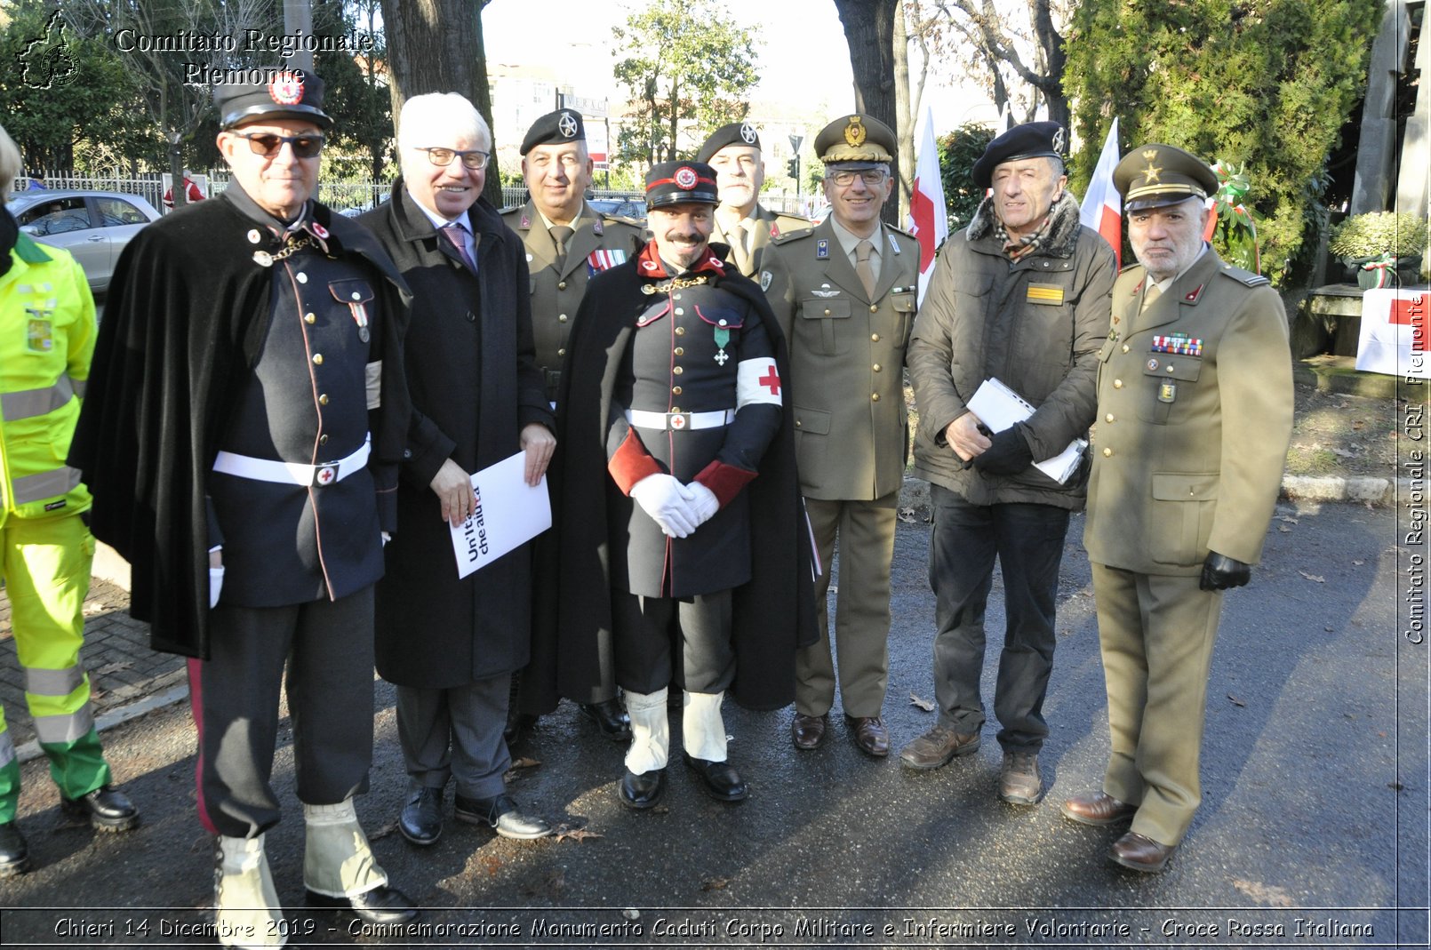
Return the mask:
<path id="1" fill-rule="evenodd" d="M 333 805 L 368 790 L 372 604 L 365 587 L 289 607 L 220 602 L 209 615 L 209 660 L 189 661 L 189 704 L 199 731 L 199 820 L 210 833 L 248 838 L 278 824 L 270 777 L 280 688 L 299 801 Z"/>

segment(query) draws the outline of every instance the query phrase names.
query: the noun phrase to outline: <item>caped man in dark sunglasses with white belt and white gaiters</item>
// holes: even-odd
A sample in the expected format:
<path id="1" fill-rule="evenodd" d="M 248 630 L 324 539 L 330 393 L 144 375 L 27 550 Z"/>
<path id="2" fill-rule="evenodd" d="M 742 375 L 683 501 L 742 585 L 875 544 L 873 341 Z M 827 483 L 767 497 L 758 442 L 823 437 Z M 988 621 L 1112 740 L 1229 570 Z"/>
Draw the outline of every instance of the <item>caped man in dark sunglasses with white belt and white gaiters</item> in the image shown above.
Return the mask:
<path id="1" fill-rule="evenodd" d="M 263 853 L 285 664 L 309 903 L 415 914 L 352 803 L 409 415 L 405 286 L 366 230 L 312 200 L 333 124 L 322 102 L 302 73 L 215 90 L 233 182 L 124 250 L 72 451 L 96 537 L 133 567 L 130 612 L 156 650 L 192 657 L 216 923 L 242 946 L 286 933 Z"/>

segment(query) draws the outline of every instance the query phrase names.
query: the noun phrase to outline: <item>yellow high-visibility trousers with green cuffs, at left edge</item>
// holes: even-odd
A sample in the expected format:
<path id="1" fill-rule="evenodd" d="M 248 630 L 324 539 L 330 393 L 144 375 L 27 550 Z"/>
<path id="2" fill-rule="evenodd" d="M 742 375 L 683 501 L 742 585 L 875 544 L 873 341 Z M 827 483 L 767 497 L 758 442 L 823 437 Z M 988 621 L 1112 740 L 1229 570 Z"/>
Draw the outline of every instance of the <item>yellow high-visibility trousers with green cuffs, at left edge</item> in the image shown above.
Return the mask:
<path id="1" fill-rule="evenodd" d="M 77 514 L 11 515 L 0 527 L 0 581 L 10 599 L 24 701 L 50 777 L 66 798 L 110 780 L 94 731 L 89 675 L 80 665 L 93 561 L 94 538 Z M 0 710 L 0 824 L 14 820 L 19 800 L 20 765 Z"/>

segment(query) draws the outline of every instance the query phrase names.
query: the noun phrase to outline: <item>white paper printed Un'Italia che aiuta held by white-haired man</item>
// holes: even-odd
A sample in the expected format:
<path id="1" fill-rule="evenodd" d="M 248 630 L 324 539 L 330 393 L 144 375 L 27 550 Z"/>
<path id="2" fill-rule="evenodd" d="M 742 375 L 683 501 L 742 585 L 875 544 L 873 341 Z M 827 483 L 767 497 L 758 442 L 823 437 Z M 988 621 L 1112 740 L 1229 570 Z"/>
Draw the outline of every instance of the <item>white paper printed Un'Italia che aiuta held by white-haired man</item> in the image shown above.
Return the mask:
<path id="1" fill-rule="evenodd" d="M 524 478 L 527 454 L 518 452 L 472 475 L 477 509 L 452 528 L 459 578 L 479 571 L 508 551 L 551 528 L 547 476 L 531 486 Z"/>

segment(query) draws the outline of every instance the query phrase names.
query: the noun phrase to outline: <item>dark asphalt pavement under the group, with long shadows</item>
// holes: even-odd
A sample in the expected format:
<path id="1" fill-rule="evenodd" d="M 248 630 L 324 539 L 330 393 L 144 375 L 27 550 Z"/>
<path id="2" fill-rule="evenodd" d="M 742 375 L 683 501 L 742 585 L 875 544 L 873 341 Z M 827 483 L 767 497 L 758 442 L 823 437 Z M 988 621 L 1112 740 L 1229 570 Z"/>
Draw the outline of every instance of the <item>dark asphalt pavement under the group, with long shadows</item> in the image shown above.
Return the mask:
<path id="1" fill-rule="evenodd" d="M 791 710 L 727 702 L 730 758 L 750 800 L 707 798 L 675 751 L 665 804 L 631 813 L 615 797 L 622 750 L 564 704 L 515 750 L 529 761 L 509 791 L 567 834 L 497 838 L 454 823 L 449 797 L 441 841 L 418 850 L 392 827 L 405 775 L 392 692 L 379 682 L 359 816 L 394 884 L 424 914 L 379 933 L 302 906 L 285 733 L 275 784 L 288 811 L 269 854 L 290 946 L 1427 946 L 1428 664 L 1427 647 L 1405 635 L 1425 617 L 1425 545 L 1407 541 L 1405 522 L 1401 508 L 1279 505 L 1252 585 L 1226 598 L 1203 804 L 1166 874 L 1109 867 L 1115 833 L 1058 810 L 1099 784 L 1108 750 L 1075 518 L 1045 707 L 1053 731 L 1040 760 L 1043 804 L 997 800 L 992 718 L 977 754 L 912 773 L 896 755 L 859 753 L 839 715 L 823 748 L 800 753 L 788 741 Z M 933 697 L 926 545 L 924 525 L 900 525 L 884 710 L 896 750 L 934 721 L 910 701 Z M 1000 598 L 996 585 L 995 650 Z M 990 717 L 992 674 L 993 657 Z M 677 747 L 678 735 L 673 721 Z M 145 824 L 124 836 L 66 824 L 43 760 L 26 763 L 20 827 L 34 870 L 0 883 L 0 944 L 212 946 L 195 931 L 212 923 L 212 851 L 195 817 L 186 705 L 109 728 L 104 744 Z"/>

